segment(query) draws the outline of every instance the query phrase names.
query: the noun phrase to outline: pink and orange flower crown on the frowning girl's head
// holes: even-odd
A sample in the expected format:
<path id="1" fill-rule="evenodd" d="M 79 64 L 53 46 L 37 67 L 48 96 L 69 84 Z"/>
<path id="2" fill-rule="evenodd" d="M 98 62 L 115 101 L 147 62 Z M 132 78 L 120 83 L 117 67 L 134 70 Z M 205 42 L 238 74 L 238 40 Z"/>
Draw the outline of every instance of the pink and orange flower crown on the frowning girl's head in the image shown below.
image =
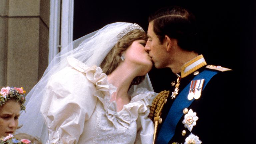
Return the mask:
<path id="1" fill-rule="evenodd" d="M 26 101 L 25 93 L 26 91 L 23 90 L 23 87 L 3 87 L 0 92 L 0 106 L 4 105 L 8 99 L 14 97 L 16 101 L 21 102 L 20 110 L 25 110 L 23 105 Z"/>

